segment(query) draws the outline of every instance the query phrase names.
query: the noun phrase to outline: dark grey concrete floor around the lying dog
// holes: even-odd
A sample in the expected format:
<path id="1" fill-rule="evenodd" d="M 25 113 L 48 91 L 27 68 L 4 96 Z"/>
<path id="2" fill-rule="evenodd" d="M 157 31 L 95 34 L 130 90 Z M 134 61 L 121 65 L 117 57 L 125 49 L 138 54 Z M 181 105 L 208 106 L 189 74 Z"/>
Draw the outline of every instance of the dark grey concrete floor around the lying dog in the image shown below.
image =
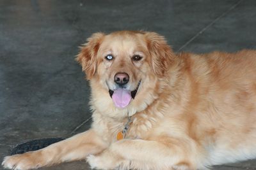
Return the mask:
<path id="1" fill-rule="evenodd" d="M 202 53 L 255 49 L 255 28 L 254 0 L 0 1 L 0 159 L 17 143 L 90 127 L 90 89 L 74 56 L 93 32 L 156 31 L 175 52 Z M 256 169 L 256 160 L 213 169 Z"/>

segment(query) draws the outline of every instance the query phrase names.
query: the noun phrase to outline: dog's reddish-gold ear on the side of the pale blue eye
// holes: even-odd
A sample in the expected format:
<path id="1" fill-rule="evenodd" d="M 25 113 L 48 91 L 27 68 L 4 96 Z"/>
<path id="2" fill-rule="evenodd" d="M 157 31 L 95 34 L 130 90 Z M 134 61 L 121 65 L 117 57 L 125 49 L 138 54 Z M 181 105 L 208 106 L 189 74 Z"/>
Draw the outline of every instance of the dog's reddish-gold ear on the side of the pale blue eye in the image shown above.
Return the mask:
<path id="1" fill-rule="evenodd" d="M 96 72 L 96 56 L 103 37 L 104 34 L 102 32 L 92 34 L 87 39 L 87 43 L 81 46 L 81 51 L 76 57 L 76 60 L 81 64 L 83 71 L 86 73 L 87 80 L 91 80 Z"/>

